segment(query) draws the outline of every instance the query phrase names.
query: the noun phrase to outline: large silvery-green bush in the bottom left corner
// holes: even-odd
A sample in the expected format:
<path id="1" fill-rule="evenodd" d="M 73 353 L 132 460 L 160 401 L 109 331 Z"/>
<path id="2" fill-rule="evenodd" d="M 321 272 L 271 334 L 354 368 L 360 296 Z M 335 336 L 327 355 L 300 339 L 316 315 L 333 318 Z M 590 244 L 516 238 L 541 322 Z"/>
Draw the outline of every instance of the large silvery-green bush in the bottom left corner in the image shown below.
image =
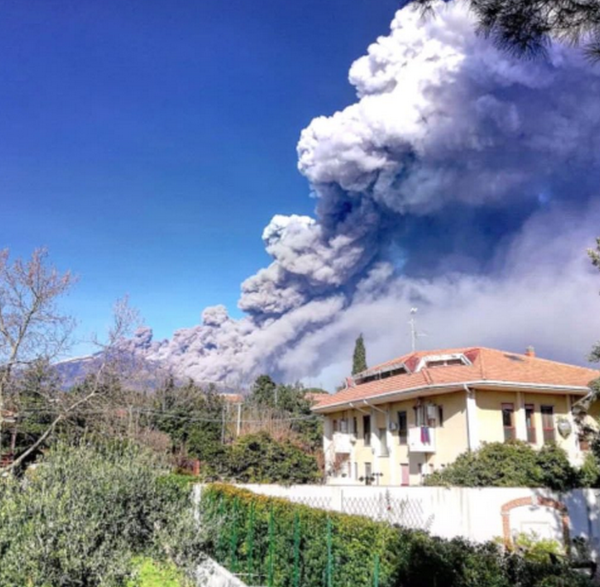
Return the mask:
<path id="1" fill-rule="evenodd" d="M 162 471 L 128 445 L 58 444 L 25 478 L 2 479 L 0 585 L 116 587 L 135 555 L 197 554 L 189 492 Z"/>

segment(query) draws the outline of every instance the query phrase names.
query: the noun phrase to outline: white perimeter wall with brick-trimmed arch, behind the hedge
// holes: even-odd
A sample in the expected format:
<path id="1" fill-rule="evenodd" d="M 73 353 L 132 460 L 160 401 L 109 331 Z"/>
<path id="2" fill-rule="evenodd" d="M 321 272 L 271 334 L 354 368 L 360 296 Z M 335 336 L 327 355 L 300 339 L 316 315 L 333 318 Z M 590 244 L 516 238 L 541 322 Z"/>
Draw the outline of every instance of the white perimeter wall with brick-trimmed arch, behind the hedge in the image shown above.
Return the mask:
<path id="1" fill-rule="evenodd" d="M 422 511 L 427 529 L 444 538 L 463 536 L 475 541 L 493 540 L 503 535 L 502 505 L 513 500 L 550 498 L 568 508 L 571 538 L 585 538 L 593 558 L 600 558 L 600 490 L 577 489 L 568 493 L 553 493 L 529 487 L 366 487 L 331 485 L 238 485 L 262 495 L 304 501 L 320 501 L 334 511 L 354 513 L 357 502 L 385 503 L 386 499 L 408 500 Z M 387 495 L 386 495 L 387 492 Z M 322 506 L 326 507 L 326 506 Z M 365 508 L 365 514 L 377 514 Z M 563 542 L 563 522 L 560 511 L 545 505 L 520 505 L 510 511 L 511 534 L 535 531 L 542 538 Z"/>

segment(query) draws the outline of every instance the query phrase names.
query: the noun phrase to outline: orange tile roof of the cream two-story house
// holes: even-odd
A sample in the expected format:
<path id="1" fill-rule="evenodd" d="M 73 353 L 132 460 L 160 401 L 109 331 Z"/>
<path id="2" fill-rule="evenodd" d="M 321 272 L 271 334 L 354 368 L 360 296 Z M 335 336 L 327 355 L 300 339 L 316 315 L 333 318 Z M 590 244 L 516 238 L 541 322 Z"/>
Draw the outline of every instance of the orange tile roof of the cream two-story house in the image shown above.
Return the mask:
<path id="1" fill-rule="evenodd" d="M 415 371 L 423 357 L 448 354 L 463 354 L 471 364 L 424 367 Z M 361 375 L 374 374 L 381 369 L 401 364 L 406 365 L 409 372 L 346 387 L 337 393 L 320 398 L 313 410 L 320 411 L 322 408 L 332 405 L 377 398 L 395 392 L 427 390 L 443 386 L 459 387 L 471 383 L 502 382 L 509 387 L 511 385 L 515 387 L 556 386 L 584 392 L 587 384 L 600 376 L 600 372 L 594 369 L 485 347 L 416 351 L 380 363 L 367 369 Z"/>

